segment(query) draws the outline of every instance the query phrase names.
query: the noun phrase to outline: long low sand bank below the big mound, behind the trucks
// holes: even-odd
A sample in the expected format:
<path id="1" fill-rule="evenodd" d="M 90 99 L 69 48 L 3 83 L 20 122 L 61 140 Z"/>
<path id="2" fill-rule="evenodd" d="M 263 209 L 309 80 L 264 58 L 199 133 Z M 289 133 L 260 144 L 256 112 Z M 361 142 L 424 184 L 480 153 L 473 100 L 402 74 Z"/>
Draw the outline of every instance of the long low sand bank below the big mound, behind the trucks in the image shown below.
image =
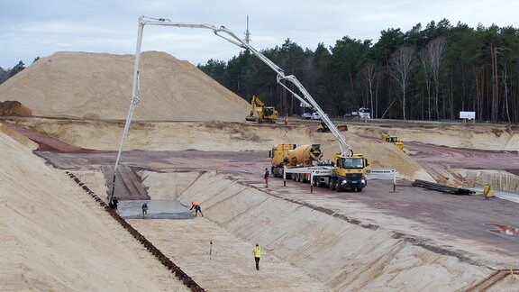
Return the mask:
<path id="1" fill-rule="evenodd" d="M 18 125 L 85 149 L 117 151 L 122 122 L 70 121 L 19 118 Z M 278 143 L 321 144 L 323 159 L 340 151 L 332 133 L 314 132 L 313 124 L 258 124 L 223 122 L 162 122 L 131 124 L 124 150 L 143 151 L 265 151 Z M 396 169 L 401 178 L 431 180 L 423 168 L 389 143 L 369 140 L 353 132 L 341 132 L 356 153 L 368 158 L 375 169 Z"/>

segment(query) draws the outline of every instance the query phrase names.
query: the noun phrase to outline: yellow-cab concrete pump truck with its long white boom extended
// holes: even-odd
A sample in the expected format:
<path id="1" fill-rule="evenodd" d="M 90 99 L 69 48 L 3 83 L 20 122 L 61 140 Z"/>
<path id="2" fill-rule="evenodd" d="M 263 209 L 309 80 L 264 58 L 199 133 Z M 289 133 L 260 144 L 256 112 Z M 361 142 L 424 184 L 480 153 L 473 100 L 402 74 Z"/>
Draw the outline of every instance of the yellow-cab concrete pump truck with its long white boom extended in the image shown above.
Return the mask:
<path id="1" fill-rule="evenodd" d="M 328 115 L 324 114 L 321 107 L 317 105 L 314 98 L 310 96 L 310 94 L 306 91 L 305 87 L 303 87 L 303 85 L 295 76 L 285 75 L 285 71 L 282 68 L 279 68 L 278 65 L 274 64 L 270 59 L 268 59 L 258 50 L 250 46 L 250 44 L 247 41 L 241 40 L 238 36 L 236 36 L 236 34 L 231 32 L 224 26 L 215 27 L 214 25 L 205 23 L 173 23 L 165 18 L 152 18 L 146 16 L 139 17 L 138 23 L 139 26 L 137 32 L 137 46 L 135 52 L 135 64 L 133 68 L 132 98 L 130 102 L 130 108 L 128 109 L 128 115 L 126 117 L 126 123 L 124 124 L 123 137 L 121 139 L 119 151 L 117 152 L 117 158 L 115 160 L 114 178 L 112 182 L 112 194 L 110 196 L 110 202 L 112 202 L 112 199 L 114 198 L 114 187 L 117 166 L 121 159 L 121 154 L 123 152 L 123 144 L 126 139 L 128 130 L 130 128 L 130 123 L 132 123 L 132 114 L 135 109 L 135 106 L 141 100 L 141 97 L 139 96 L 139 70 L 141 62 L 142 33 L 145 25 L 172 26 L 191 29 L 199 28 L 213 31 L 215 35 L 223 38 L 225 41 L 229 41 L 242 49 L 249 50 L 250 53 L 254 54 L 267 66 L 269 66 L 269 68 L 271 68 L 277 73 L 277 81 L 281 87 L 284 87 L 288 92 L 295 96 L 303 105 L 305 105 L 306 107 L 314 108 L 314 111 L 321 115 L 323 123 L 326 126 L 328 126 L 330 132 L 332 132 L 332 134 L 339 142 L 341 152 L 335 153 L 332 163 L 328 166 L 314 166 L 314 164 L 313 166 L 300 165 L 297 164 L 297 161 L 295 161 L 295 166 L 290 166 L 286 163 L 287 160 L 285 159 L 285 157 L 278 157 L 278 155 L 285 155 L 283 154 L 283 151 L 271 151 L 271 153 L 273 153 L 273 162 L 278 161 L 279 159 L 282 161 L 277 165 L 272 165 L 272 169 L 276 169 L 276 173 L 278 173 L 278 168 L 282 167 L 284 178 L 286 178 L 287 174 L 299 174 L 299 177 L 309 177 L 315 185 L 326 184 L 330 188 L 336 189 L 338 191 L 341 189 L 356 189 L 357 191 L 361 191 L 362 188 L 366 186 L 366 169 L 369 168 L 369 161 L 363 158 L 361 154 L 353 154 L 350 144 L 344 139 L 344 137 L 342 137 L 341 132 L 339 132 L 337 127 L 335 127 Z M 303 96 L 297 95 L 296 92 L 294 92 L 291 88 L 287 87 L 285 81 L 292 83 Z M 296 148 L 295 144 L 292 145 L 294 146 L 294 148 Z M 295 150 L 296 149 L 287 149 L 287 152 Z"/>

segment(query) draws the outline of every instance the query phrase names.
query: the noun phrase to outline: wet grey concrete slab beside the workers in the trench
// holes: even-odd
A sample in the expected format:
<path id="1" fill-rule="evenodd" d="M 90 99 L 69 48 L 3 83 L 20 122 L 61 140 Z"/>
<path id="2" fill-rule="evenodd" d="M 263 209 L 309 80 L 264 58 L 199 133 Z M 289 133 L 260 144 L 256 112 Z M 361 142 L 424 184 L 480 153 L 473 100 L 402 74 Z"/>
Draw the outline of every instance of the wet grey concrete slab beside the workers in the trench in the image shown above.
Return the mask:
<path id="1" fill-rule="evenodd" d="M 148 214 L 143 217 L 142 204 L 148 204 Z M 190 206 L 177 200 L 120 200 L 117 213 L 124 219 L 193 219 Z"/>

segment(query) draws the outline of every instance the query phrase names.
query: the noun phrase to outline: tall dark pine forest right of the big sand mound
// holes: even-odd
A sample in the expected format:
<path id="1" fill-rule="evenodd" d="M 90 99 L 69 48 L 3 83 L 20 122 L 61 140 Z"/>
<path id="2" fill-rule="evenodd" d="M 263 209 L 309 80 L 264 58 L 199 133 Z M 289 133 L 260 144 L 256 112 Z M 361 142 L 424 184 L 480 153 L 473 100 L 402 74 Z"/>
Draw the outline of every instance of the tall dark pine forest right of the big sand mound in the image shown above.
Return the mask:
<path id="1" fill-rule="evenodd" d="M 287 39 L 261 53 L 296 76 L 331 116 L 369 107 L 375 118 L 456 120 L 463 111 L 475 112 L 479 121 L 519 120 L 519 32 L 512 26 L 471 28 L 443 19 L 408 32 L 387 29 L 375 43 L 344 36 L 309 50 Z M 198 68 L 248 101 L 259 96 L 280 114 L 304 111 L 249 51 Z"/>

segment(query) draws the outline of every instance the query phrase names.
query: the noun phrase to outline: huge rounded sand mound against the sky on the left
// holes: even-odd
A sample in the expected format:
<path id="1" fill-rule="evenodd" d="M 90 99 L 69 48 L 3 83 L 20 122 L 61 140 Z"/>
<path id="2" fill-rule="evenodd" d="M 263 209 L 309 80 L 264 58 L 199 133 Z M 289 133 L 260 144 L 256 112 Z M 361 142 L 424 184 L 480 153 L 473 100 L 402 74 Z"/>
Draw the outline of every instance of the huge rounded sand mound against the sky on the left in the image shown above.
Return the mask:
<path id="1" fill-rule="evenodd" d="M 133 66 L 133 55 L 57 52 L 2 84 L 0 101 L 19 101 L 38 116 L 124 120 Z M 140 73 L 134 120 L 241 122 L 249 112 L 240 96 L 167 53 L 142 53 Z"/>

